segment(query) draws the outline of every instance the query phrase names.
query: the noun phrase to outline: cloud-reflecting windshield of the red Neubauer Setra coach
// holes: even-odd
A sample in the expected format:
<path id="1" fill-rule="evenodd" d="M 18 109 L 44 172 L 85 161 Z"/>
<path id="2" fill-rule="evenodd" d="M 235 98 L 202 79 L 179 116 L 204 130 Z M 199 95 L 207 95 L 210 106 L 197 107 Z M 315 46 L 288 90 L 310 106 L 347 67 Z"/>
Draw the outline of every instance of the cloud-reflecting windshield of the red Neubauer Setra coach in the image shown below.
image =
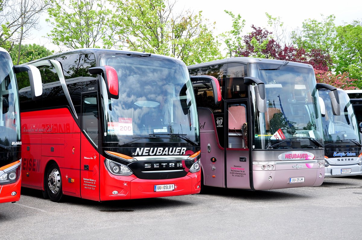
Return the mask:
<path id="1" fill-rule="evenodd" d="M 117 70 L 119 99 L 106 104 L 105 141 L 199 141 L 193 87 L 186 65 L 157 56 L 105 54 L 101 65 Z"/>

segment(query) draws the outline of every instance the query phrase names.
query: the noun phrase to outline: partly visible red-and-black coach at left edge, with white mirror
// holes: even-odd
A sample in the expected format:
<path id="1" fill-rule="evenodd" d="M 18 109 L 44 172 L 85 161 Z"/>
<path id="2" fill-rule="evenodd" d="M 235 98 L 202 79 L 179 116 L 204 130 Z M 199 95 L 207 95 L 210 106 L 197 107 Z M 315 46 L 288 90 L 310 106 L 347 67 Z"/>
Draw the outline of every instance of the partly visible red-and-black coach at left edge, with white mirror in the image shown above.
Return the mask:
<path id="1" fill-rule="evenodd" d="M 41 82 L 33 82 L 39 80 L 38 69 L 25 64 L 13 66 L 9 53 L 0 48 L 0 203 L 20 200 L 20 111 L 15 78 L 20 72 L 28 72 L 29 96 L 36 100 L 42 92 Z"/>

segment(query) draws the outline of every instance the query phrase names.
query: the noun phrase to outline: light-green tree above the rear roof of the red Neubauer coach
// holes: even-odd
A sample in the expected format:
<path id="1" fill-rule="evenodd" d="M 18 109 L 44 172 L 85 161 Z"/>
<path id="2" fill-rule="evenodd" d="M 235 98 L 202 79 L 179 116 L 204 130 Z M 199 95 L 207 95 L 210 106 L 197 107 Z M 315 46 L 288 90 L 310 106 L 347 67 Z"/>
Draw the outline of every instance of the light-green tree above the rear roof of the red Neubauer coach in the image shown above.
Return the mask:
<path id="1" fill-rule="evenodd" d="M 55 45 L 70 49 L 100 47 L 109 27 L 106 21 L 111 10 L 105 0 L 51 0 L 54 8 L 48 9 L 46 21 L 53 29 L 47 36 Z"/>

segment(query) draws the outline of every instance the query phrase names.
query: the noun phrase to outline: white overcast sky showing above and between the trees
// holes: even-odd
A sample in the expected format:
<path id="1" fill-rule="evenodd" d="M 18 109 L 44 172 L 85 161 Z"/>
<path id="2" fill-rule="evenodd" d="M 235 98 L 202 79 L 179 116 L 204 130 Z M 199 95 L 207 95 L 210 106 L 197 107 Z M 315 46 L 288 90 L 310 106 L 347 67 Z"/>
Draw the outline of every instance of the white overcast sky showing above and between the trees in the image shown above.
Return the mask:
<path id="1" fill-rule="evenodd" d="M 319 0 L 178 0 L 177 10 L 191 9 L 195 12 L 202 10 L 202 16 L 209 19 L 210 22 L 216 22 L 215 35 L 231 30 L 232 19 L 224 10 L 231 11 L 235 15 L 240 14 L 245 19 L 243 35 L 251 31 L 250 26 L 254 24 L 257 27 L 268 27 L 268 19 L 265 12 L 272 17 L 281 17 L 284 22 L 284 28 L 291 31 L 296 27 L 302 27 L 302 22 L 308 18 L 322 20 L 321 14 L 327 17 L 331 14 L 336 16 L 335 24 L 343 25 L 344 22 L 350 23 L 353 20 L 362 20 L 362 1 L 344 0 L 344 1 L 319 1 Z M 176 8 L 175 8 L 176 10 Z M 36 43 L 43 45 L 48 49 L 56 50 L 47 38 L 42 38 L 50 31 L 44 13 L 40 18 L 42 29 L 33 32 L 33 39 L 27 40 L 26 43 Z M 271 30 L 271 29 L 270 29 Z"/>

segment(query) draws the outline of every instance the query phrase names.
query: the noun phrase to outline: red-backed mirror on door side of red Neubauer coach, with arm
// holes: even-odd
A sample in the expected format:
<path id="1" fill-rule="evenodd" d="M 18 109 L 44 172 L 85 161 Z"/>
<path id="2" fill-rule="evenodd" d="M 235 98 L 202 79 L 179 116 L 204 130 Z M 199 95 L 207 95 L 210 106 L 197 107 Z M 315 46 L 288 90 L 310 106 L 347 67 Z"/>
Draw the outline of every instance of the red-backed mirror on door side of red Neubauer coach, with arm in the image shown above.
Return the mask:
<path id="1" fill-rule="evenodd" d="M 90 74 L 100 74 L 106 82 L 108 95 L 113 99 L 119 98 L 118 74 L 113 67 L 93 67 L 89 68 L 88 71 Z"/>

